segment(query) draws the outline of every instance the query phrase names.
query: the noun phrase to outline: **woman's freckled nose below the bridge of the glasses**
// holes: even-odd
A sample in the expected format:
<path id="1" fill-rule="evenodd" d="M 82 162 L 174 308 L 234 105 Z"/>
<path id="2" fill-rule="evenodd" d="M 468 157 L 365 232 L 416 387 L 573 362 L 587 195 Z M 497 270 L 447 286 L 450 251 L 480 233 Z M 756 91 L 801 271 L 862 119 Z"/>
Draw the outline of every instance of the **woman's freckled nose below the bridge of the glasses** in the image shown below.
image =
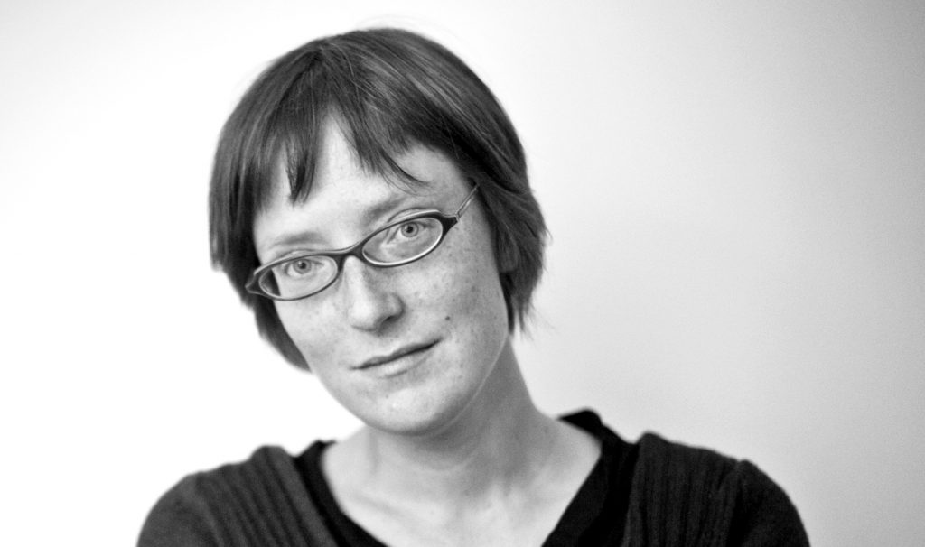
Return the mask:
<path id="1" fill-rule="evenodd" d="M 344 313 L 353 328 L 374 332 L 404 311 L 401 298 L 381 273 L 356 257 L 344 261 L 340 290 Z"/>

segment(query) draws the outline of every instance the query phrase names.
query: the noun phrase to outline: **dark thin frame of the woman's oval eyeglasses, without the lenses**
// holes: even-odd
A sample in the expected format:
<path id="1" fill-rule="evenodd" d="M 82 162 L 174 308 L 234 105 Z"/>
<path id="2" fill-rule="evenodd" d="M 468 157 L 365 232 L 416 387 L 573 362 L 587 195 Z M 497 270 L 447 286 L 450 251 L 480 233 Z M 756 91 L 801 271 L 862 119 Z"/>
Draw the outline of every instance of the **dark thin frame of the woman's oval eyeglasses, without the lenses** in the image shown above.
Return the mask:
<path id="1" fill-rule="evenodd" d="M 412 213 L 412 214 L 409 214 L 408 216 L 404 216 L 397 220 L 389 222 L 386 225 L 379 226 L 378 228 L 370 232 L 368 235 L 366 235 L 363 239 L 361 239 L 360 241 L 357 241 L 350 247 L 345 247 L 343 249 L 334 249 L 334 250 L 303 252 L 303 253 L 299 253 L 299 254 L 292 255 L 292 256 L 282 257 L 275 261 L 269 261 L 265 263 L 264 265 L 260 266 L 259 268 L 257 268 L 256 270 L 254 270 L 253 273 L 251 273 L 251 276 L 248 278 L 247 282 L 244 284 L 244 288 L 247 290 L 247 292 L 253 295 L 270 298 L 270 299 L 282 301 L 282 302 L 290 302 L 293 300 L 301 300 L 302 298 L 314 297 L 314 295 L 320 292 L 323 292 L 325 289 L 327 289 L 327 287 L 332 286 L 334 282 L 337 281 L 338 278 L 340 277 L 340 273 L 343 272 L 343 264 L 344 264 L 344 261 L 347 260 L 347 257 L 355 257 L 358 261 L 361 261 L 364 264 L 368 264 L 370 266 L 374 266 L 376 268 L 395 268 L 397 266 L 404 266 L 405 264 L 410 264 L 414 261 L 419 261 L 423 259 L 425 256 L 437 250 L 438 247 L 443 243 L 443 240 L 447 237 L 447 234 L 450 233 L 450 228 L 459 224 L 460 219 L 462 218 L 462 214 L 466 212 L 466 210 L 469 208 L 469 205 L 475 199 L 475 192 L 477 190 L 478 190 L 478 185 L 475 185 L 475 188 L 472 188 L 472 191 L 469 192 L 469 195 L 466 196 L 465 200 L 462 201 L 459 208 L 456 210 L 456 213 L 447 214 L 447 213 L 438 211 L 437 209 L 428 209 L 425 211 L 419 211 L 418 213 Z M 378 262 L 378 261 L 374 261 L 374 260 L 367 258 L 363 254 L 364 246 L 373 237 L 376 237 L 384 230 L 388 230 L 389 228 L 392 228 L 394 226 L 401 225 L 406 222 L 410 222 L 410 221 L 413 221 L 419 218 L 433 218 L 440 223 L 440 227 L 441 227 L 440 238 L 437 240 L 436 243 L 433 244 L 433 246 L 431 246 L 430 249 L 427 249 L 425 252 L 417 256 L 414 256 L 410 259 L 405 259 L 405 260 L 398 261 L 398 262 Z M 321 286 L 321 288 L 315 290 L 314 292 L 308 293 L 307 295 L 302 295 L 300 297 L 285 298 L 285 297 L 271 295 L 268 292 L 266 292 L 262 286 L 260 286 L 260 281 L 263 279 L 265 274 L 270 273 L 271 270 L 273 270 L 273 268 L 276 268 L 279 264 L 283 264 L 289 261 L 298 261 L 298 260 L 302 260 L 305 258 L 316 257 L 316 256 L 325 256 L 325 257 L 332 259 L 334 261 L 334 265 L 337 266 L 337 273 L 335 273 L 331 277 L 330 281 L 328 281 L 324 286 Z"/>

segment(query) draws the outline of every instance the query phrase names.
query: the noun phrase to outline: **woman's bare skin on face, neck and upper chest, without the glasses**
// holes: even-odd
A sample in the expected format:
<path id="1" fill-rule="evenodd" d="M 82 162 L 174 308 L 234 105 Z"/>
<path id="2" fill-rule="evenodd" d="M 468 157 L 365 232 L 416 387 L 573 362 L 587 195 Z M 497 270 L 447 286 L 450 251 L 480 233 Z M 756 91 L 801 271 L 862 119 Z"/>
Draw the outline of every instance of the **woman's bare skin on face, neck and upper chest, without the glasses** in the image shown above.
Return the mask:
<path id="1" fill-rule="evenodd" d="M 348 247 L 403 214 L 455 212 L 472 189 L 421 146 L 396 158 L 425 181 L 409 192 L 365 171 L 335 123 L 322 143 L 308 197 L 292 203 L 280 176 L 255 220 L 264 263 Z M 319 381 L 364 421 L 323 470 L 344 512 L 388 544 L 538 545 L 598 458 L 596 440 L 530 399 L 492 249 L 476 199 L 424 259 L 351 257 L 322 293 L 277 302 Z"/>

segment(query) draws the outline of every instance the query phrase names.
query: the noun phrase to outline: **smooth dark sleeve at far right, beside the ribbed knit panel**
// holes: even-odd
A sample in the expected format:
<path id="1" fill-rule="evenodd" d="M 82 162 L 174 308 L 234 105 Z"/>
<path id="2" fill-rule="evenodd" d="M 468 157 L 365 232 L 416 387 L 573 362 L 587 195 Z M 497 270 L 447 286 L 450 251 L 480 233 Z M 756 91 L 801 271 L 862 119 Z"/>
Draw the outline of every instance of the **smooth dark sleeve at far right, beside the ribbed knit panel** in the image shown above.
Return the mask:
<path id="1" fill-rule="evenodd" d="M 732 473 L 737 496 L 729 545 L 743 547 L 807 546 L 809 540 L 796 507 L 770 477 L 749 461 Z"/>

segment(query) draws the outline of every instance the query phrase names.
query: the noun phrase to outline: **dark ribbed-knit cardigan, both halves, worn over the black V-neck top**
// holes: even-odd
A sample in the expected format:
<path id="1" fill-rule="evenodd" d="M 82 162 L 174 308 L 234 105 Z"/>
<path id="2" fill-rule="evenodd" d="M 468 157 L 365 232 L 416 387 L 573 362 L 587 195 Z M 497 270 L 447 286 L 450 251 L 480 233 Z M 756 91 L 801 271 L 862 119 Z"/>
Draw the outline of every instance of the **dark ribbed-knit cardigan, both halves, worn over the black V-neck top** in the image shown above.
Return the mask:
<path id="1" fill-rule="evenodd" d="M 617 516 L 615 516 L 617 517 Z M 277 447 L 181 480 L 154 505 L 139 547 L 335 547 L 291 456 Z M 786 494 L 759 468 L 653 434 L 638 443 L 626 547 L 804 546 Z"/>

